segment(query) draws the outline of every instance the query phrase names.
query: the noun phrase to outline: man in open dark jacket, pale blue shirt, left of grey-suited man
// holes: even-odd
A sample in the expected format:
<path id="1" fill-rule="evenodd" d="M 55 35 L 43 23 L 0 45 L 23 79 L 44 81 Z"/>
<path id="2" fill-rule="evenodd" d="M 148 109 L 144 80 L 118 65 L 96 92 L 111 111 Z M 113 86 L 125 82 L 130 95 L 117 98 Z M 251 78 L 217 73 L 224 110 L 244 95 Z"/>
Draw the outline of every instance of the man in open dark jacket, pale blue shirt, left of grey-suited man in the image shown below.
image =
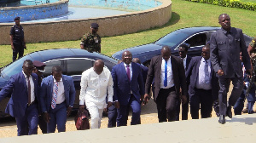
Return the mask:
<path id="1" fill-rule="evenodd" d="M 213 96 L 218 95 L 218 77 L 213 71 L 210 58 L 210 46 L 202 48 L 201 56 L 195 56 L 190 61 L 186 71 L 189 84 L 190 114 L 192 119 L 211 117 Z"/>

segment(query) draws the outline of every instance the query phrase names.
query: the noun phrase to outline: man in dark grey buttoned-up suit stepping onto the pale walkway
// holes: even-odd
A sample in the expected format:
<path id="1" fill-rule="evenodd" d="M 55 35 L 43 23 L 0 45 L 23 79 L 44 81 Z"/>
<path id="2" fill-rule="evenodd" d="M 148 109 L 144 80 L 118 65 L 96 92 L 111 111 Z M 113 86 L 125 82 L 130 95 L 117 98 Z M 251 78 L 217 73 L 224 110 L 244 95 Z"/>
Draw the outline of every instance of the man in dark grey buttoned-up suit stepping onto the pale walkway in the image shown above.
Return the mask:
<path id="1" fill-rule="evenodd" d="M 211 62 L 215 72 L 218 73 L 218 102 L 220 117 L 218 123 L 225 123 L 225 116 L 232 117 L 231 106 L 234 106 L 243 88 L 240 52 L 246 72 L 252 75 L 252 67 L 247 53 L 246 43 L 241 29 L 230 26 L 230 16 L 220 14 L 218 23 L 221 29 L 211 35 Z M 227 104 L 227 92 L 230 81 L 234 87 Z"/>

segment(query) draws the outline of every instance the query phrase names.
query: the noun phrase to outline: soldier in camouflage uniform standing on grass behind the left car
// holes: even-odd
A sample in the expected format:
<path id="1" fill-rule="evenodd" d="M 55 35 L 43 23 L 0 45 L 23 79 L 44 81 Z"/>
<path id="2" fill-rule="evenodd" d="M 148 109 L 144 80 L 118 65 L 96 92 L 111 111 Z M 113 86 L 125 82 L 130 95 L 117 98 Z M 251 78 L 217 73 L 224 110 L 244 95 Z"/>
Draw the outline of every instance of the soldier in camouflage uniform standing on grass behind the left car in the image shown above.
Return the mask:
<path id="1" fill-rule="evenodd" d="M 96 23 L 92 23 L 90 25 L 90 31 L 81 39 L 80 47 L 81 49 L 86 49 L 89 52 L 98 52 L 101 53 L 101 43 L 102 39 L 97 34 L 99 25 Z"/>

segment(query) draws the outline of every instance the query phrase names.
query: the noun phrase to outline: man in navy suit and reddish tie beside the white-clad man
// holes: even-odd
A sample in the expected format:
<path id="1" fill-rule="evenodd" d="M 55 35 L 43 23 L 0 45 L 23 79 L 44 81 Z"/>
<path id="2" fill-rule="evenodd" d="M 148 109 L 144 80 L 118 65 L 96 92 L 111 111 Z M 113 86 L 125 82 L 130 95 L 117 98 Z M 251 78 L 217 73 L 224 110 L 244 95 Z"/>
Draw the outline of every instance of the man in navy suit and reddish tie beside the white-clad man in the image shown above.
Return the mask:
<path id="1" fill-rule="evenodd" d="M 113 100 L 118 109 L 117 126 L 127 125 L 127 109 L 131 106 L 131 125 L 139 123 L 141 115 L 140 100 L 144 94 L 143 76 L 140 66 L 131 62 L 132 54 L 125 51 L 120 64 L 113 66 Z"/>

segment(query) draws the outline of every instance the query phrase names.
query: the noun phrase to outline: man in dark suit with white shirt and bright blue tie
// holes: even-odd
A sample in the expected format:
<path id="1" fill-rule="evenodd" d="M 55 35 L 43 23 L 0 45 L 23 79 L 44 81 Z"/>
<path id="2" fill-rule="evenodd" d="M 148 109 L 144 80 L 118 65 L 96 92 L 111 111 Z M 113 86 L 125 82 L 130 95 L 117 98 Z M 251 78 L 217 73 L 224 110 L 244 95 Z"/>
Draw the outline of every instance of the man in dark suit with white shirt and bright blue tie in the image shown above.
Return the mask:
<path id="1" fill-rule="evenodd" d="M 150 61 L 148 77 L 145 84 L 144 103 L 148 102 L 148 94 L 154 79 L 154 101 L 157 105 L 159 122 L 175 121 L 177 100 L 186 102 L 187 86 L 183 61 L 171 55 L 171 49 L 163 47 L 161 55 Z M 182 95 L 180 97 L 180 89 Z M 166 116 L 167 114 L 167 116 Z"/>

